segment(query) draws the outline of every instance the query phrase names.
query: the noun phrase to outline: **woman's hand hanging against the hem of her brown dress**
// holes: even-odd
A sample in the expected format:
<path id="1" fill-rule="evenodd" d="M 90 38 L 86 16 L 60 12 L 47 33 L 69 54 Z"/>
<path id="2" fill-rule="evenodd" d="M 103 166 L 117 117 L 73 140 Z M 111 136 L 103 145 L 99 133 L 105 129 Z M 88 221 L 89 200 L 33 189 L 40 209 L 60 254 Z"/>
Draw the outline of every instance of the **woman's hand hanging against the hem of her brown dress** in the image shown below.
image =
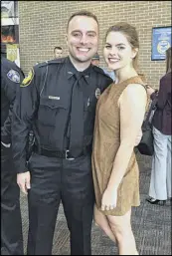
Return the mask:
<path id="1" fill-rule="evenodd" d="M 101 210 L 112 210 L 117 203 L 117 189 L 115 187 L 106 188 L 101 199 Z"/>

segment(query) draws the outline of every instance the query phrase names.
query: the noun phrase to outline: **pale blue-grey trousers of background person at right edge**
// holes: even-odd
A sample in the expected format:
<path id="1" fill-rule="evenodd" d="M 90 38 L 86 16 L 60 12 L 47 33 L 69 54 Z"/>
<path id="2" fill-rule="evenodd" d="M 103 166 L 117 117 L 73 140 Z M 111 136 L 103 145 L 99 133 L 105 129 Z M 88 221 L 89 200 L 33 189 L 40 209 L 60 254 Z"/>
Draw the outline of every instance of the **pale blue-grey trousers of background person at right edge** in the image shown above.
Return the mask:
<path id="1" fill-rule="evenodd" d="M 171 135 L 153 128 L 154 155 L 149 195 L 154 199 L 166 200 L 171 197 Z"/>

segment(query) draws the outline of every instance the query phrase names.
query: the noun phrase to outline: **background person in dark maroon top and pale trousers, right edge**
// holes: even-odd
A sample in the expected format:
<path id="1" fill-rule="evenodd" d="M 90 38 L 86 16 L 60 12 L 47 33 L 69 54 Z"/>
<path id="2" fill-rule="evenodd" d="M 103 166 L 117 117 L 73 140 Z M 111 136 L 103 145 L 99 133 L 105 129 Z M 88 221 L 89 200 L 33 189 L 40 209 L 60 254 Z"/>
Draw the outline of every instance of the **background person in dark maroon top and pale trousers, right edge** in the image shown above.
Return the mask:
<path id="1" fill-rule="evenodd" d="M 157 96 L 157 109 L 154 113 L 152 125 L 154 136 L 154 155 L 149 187 L 149 198 L 152 204 L 164 205 L 171 198 L 171 116 L 172 116 L 172 73 L 171 51 L 166 51 L 166 74 L 160 80 Z M 148 91 L 151 98 L 155 97 L 153 89 Z"/>

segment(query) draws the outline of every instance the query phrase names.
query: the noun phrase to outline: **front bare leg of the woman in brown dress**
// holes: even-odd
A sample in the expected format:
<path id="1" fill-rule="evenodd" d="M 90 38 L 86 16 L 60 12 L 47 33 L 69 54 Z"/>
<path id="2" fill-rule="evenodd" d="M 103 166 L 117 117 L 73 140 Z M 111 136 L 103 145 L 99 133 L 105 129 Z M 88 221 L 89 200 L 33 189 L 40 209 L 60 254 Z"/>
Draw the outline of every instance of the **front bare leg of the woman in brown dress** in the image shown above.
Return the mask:
<path id="1" fill-rule="evenodd" d="M 109 226 L 116 237 L 119 255 L 138 255 L 131 229 L 131 209 L 123 216 L 107 215 Z"/>

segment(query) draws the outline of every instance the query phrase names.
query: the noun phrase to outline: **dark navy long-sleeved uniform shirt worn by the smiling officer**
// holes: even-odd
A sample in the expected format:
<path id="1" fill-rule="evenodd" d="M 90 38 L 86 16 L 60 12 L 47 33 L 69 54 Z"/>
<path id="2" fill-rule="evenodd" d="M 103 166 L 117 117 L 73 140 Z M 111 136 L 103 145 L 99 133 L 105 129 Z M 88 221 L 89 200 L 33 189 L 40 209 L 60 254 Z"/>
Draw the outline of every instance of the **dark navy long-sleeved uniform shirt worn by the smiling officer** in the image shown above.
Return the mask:
<path id="1" fill-rule="evenodd" d="M 83 110 L 83 117 L 76 110 L 81 119 L 72 125 L 76 83 L 75 90 L 82 97 L 76 106 Z M 112 80 L 97 67 L 90 65 L 84 72 L 78 72 L 69 57 L 35 66 L 21 84 L 13 111 L 13 151 L 18 172 L 27 171 L 25 148 L 31 126 L 38 148 L 59 151 L 70 145 L 74 129 L 71 126 L 75 126 L 80 138 L 74 150 L 79 147 L 77 154 L 80 150 L 82 153 L 83 147 L 92 142 L 97 99 L 111 83 Z"/>

